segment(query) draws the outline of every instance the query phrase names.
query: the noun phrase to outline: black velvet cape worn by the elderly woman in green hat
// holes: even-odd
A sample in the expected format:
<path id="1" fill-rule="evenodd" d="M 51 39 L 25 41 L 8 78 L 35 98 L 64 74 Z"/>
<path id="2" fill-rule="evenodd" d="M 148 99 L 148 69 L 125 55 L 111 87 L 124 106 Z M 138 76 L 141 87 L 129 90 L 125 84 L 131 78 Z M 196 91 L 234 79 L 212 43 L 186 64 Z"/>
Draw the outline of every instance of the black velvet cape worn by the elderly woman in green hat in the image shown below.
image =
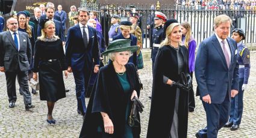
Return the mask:
<path id="1" fill-rule="evenodd" d="M 128 97 L 131 97 L 133 90 L 136 90 L 139 97 L 140 85 L 136 67 L 132 63 L 127 63 L 125 67 L 128 81 L 131 85 Z M 131 101 L 127 101 L 125 92 L 114 70 L 113 63 L 110 62 L 110 64 L 99 70 L 98 79 L 93 86 L 80 137 L 122 137 L 125 124 L 127 123 L 125 121 L 126 105 L 131 104 Z M 100 112 L 105 112 L 110 117 L 114 125 L 114 134 L 105 133 L 104 122 Z M 99 131 L 102 131 L 102 133 L 99 133 Z M 133 128 L 133 135 L 134 138 L 140 137 L 140 127 Z"/>

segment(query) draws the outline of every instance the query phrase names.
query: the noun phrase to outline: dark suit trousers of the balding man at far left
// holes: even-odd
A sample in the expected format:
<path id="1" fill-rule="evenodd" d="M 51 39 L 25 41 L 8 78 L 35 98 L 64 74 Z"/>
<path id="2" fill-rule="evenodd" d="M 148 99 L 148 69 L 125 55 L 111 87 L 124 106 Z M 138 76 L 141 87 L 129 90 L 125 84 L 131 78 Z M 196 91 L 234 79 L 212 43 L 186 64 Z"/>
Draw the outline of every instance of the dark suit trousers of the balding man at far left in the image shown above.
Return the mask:
<path id="1" fill-rule="evenodd" d="M 24 104 L 31 104 L 31 95 L 28 91 L 28 71 L 5 71 L 5 78 L 7 82 L 8 100 L 16 102 L 16 77 L 19 83 L 20 93 L 23 95 Z"/>

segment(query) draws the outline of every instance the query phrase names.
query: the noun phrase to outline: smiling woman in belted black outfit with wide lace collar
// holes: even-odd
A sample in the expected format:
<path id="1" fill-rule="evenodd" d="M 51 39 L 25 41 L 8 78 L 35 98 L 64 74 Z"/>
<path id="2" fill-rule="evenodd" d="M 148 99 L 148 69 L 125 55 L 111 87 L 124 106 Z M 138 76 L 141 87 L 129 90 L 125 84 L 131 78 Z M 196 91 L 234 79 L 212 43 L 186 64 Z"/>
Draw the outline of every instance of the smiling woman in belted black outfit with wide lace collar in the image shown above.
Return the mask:
<path id="1" fill-rule="evenodd" d="M 39 72 L 40 100 L 47 101 L 48 106 L 46 121 L 55 124 L 52 110 L 56 101 L 66 97 L 62 71 L 65 70 L 67 77 L 67 65 L 62 41 L 55 35 L 55 24 L 47 20 L 40 22 L 42 35 L 35 44 L 33 78 L 37 80 Z"/>

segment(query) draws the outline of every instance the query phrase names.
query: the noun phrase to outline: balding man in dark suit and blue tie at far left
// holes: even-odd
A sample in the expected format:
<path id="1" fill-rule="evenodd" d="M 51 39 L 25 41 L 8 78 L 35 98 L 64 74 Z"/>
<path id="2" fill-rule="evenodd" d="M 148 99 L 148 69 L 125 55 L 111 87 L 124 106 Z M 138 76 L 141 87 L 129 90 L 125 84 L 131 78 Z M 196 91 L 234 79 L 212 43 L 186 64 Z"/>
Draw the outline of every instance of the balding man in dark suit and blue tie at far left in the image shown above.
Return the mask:
<path id="1" fill-rule="evenodd" d="M 16 77 L 23 95 L 25 109 L 34 108 L 28 90 L 28 70 L 31 64 L 32 50 L 30 39 L 25 32 L 17 31 L 17 20 L 7 20 L 9 31 L 0 34 L 0 71 L 5 72 L 9 107 L 13 108 L 17 100 Z"/>

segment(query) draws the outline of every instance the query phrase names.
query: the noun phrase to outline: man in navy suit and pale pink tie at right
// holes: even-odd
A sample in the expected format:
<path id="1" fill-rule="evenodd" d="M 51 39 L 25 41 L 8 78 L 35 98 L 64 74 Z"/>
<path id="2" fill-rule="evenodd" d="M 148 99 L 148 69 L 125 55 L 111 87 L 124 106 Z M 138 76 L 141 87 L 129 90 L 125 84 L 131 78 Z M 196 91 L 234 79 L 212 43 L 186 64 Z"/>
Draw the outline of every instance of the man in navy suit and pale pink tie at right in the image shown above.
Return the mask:
<path id="1" fill-rule="evenodd" d="M 196 82 L 207 115 L 207 127 L 196 137 L 217 137 L 228 121 L 231 97 L 239 89 L 237 44 L 228 38 L 232 20 L 225 14 L 214 19 L 211 37 L 201 42 L 195 62 Z"/>

